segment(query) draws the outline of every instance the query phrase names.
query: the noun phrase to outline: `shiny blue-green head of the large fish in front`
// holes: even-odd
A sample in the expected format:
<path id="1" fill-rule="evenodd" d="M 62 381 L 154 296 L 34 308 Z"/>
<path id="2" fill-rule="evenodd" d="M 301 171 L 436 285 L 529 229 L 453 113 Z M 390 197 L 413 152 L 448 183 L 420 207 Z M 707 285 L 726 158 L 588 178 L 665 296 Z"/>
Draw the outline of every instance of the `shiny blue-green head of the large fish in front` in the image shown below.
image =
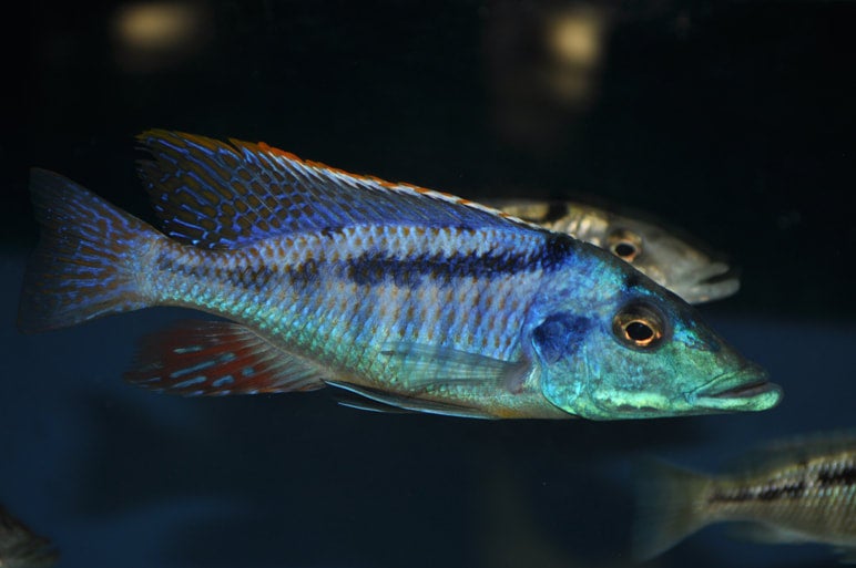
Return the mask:
<path id="1" fill-rule="evenodd" d="M 593 246 L 546 276 L 523 332 L 542 394 L 593 420 L 762 411 L 781 389 L 697 311 Z"/>

